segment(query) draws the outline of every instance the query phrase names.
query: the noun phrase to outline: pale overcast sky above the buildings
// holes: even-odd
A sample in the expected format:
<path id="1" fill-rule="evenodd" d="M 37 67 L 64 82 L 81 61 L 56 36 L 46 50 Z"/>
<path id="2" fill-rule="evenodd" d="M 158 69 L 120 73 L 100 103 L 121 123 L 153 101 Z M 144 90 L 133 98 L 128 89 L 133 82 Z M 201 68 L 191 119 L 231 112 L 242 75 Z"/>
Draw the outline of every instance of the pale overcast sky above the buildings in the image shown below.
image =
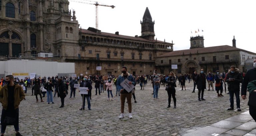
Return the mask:
<path id="1" fill-rule="evenodd" d="M 83 0 L 75 0 L 83 1 Z M 84 1 L 88 3 L 94 3 Z M 190 48 L 190 36 L 203 35 L 204 46 L 232 46 L 256 52 L 255 0 L 98 0 L 99 30 L 120 35 L 141 35 L 146 7 L 155 20 L 155 38 L 172 42 L 174 50 Z M 70 2 L 83 29 L 95 27 L 95 5 Z M 200 30 L 199 33 L 195 31 Z M 202 33 L 203 30 L 203 33 Z M 191 31 L 193 32 L 191 34 Z M 254 49 L 254 50 L 252 50 Z"/>

